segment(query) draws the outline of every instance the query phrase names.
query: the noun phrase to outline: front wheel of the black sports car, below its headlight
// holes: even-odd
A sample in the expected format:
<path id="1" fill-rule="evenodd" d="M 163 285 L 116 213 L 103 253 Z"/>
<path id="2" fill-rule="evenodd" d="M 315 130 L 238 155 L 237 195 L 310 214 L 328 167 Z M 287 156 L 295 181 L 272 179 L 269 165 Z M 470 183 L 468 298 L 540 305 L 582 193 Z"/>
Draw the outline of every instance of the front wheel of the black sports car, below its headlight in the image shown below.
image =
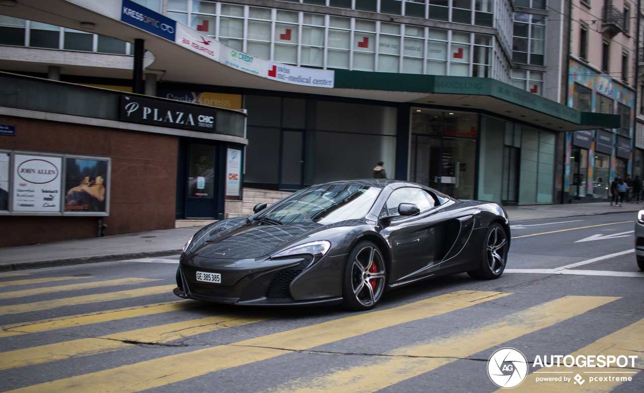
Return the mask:
<path id="1" fill-rule="evenodd" d="M 386 264 L 377 245 L 363 241 L 346 258 L 342 295 L 344 306 L 353 311 L 374 308 L 386 287 Z"/>

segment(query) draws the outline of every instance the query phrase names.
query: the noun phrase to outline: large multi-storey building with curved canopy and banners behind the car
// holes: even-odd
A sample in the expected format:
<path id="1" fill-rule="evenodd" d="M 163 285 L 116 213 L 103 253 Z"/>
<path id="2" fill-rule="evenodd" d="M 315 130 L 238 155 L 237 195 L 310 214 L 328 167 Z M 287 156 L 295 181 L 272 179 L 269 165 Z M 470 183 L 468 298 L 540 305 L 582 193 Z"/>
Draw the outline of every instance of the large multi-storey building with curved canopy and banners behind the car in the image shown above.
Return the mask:
<path id="1" fill-rule="evenodd" d="M 620 124 L 592 106 L 559 103 L 568 91 L 564 8 L 539 0 L 5 0 L 0 70 L 95 86 L 87 102 L 98 86 L 242 110 L 243 140 L 226 143 L 247 140 L 245 187 L 292 191 L 371 177 L 384 161 L 388 177 L 457 198 L 552 204 L 565 188 L 558 138 Z M 1 123 L 29 115 L 15 106 L 0 108 Z M 15 161 L 12 138 L 0 135 L 0 148 Z M 205 169 L 216 184 L 230 175 L 199 160 L 226 162 L 223 149 L 232 147 L 187 136 L 176 143 L 176 220 L 243 214 L 233 203 L 242 191 L 198 195 Z"/>

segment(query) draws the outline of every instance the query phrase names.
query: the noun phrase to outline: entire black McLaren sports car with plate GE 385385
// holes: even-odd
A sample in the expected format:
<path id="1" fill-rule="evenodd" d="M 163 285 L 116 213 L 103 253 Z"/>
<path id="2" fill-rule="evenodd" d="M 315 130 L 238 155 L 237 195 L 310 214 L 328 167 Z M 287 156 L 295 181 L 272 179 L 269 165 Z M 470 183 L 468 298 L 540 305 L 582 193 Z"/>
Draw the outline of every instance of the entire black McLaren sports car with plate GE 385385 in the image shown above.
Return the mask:
<path id="1" fill-rule="evenodd" d="M 498 278 L 510 245 L 506 212 L 400 180 L 311 186 L 249 217 L 198 231 L 174 292 L 239 305 L 344 302 L 366 310 L 389 289 L 444 274 Z"/>

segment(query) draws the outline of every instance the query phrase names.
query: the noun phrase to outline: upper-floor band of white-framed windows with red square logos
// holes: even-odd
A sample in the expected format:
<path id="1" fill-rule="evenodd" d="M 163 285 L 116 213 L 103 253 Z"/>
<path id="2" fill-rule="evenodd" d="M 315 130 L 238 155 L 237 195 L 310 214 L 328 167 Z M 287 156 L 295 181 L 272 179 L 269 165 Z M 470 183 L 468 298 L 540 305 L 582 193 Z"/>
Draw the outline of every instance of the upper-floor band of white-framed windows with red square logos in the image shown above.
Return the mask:
<path id="1" fill-rule="evenodd" d="M 452 1 L 457 8 L 470 14 L 472 7 L 477 6 L 491 10 L 491 3 L 486 1 Z M 445 3 L 446 6 L 437 7 L 450 10 L 450 1 Z M 363 8 L 369 8 L 359 1 L 356 7 L 361 4 Z M 236 50 L 286 64 L 359 71 L 491 76 L 492 35 L 209 1 L 171 1 L 167 15 Z M 449 15 L 450 12 L 448 18 Z"/>

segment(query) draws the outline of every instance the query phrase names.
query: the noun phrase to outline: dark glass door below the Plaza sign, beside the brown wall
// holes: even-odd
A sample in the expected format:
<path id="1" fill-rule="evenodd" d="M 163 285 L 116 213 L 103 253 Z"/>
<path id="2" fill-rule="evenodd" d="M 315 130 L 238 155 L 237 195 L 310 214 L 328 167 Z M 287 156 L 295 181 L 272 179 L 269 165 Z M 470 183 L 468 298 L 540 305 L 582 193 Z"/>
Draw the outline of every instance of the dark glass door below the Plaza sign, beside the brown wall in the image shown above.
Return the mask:
<path id="1" fill-rule="evenodd" d="M 216 216 L 216 146 L 190 144 L 186 184 L 185 218 Z"/>

